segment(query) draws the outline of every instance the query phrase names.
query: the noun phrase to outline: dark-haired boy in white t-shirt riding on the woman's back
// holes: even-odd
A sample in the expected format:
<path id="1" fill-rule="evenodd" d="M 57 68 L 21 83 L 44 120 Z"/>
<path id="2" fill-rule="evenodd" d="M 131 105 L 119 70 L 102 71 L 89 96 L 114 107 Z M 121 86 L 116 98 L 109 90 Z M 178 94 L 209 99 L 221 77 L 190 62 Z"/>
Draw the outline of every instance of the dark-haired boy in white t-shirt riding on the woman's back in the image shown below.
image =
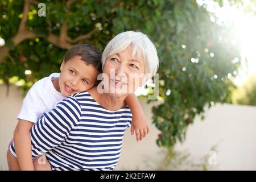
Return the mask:
<path id="1" fill-rule="evenodd" d="M 31 158 L 31 127 L 43 113 L 51 110 L 65 97 L 97 85 L 97 76 L 101 73 L 101 52 L 88 44 L 73 46 L 64 55 L 60 71 L 61 73 L 52 73 L 49 77 L 35 82 L 24 98 L 18 114 L 19 122 L 14 131 L 14 142 L 10 143 L 7 151 L 10 170 L 34 170 Z M 133 113 L 131 134 L 133 135 L 135 129 L 139 141 L 148 133 L 146 117 L 134 94 L 126 98 L 126 103 Z"/>

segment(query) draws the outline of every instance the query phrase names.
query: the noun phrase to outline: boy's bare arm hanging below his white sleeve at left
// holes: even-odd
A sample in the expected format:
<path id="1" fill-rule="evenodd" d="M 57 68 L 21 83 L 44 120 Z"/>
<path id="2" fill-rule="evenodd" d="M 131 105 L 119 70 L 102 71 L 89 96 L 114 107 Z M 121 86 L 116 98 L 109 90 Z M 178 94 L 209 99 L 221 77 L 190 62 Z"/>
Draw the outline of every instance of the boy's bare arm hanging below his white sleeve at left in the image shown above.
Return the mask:
<path id="1" fill-rule="evenodd" d="M 14 146 L 18 158 L 19 167 L 22 171 L 34 171 L 31 154 L 30 130 L 33 122 L 19 119 L 14 130 Z"/>

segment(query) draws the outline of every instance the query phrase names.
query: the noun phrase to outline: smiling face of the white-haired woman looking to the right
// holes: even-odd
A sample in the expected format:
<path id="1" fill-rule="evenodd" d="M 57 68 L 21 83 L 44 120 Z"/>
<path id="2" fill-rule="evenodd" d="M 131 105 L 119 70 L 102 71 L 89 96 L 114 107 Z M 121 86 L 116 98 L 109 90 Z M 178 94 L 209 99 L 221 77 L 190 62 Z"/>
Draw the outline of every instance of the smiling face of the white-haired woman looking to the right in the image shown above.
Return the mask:
<path id="1" fill-rule="evenodd" d="M 103 68 L 104 92 L 112 96 L 134 93 L 144 84 L 146 65 L 143 57 L 131 55 L 131 48 L 108 57 Z"/>

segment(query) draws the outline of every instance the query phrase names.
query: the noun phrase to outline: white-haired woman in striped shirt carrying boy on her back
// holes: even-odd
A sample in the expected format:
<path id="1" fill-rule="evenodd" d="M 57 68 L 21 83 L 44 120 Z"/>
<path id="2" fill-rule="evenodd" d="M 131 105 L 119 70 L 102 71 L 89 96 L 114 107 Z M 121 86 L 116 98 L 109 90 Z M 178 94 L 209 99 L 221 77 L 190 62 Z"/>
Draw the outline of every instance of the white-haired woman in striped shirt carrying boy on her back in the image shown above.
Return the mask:
<path id="1" fill-rule="evenodd" d="M 66 98 L 32 127 L 33 158 L 46 154 L 52 170 L 114 169 L 132 119 L 125 98 L 144 84 L 141 75 L 152 77 L 157 69 L 156 48 L 146 35 L 115 36 L 102 54 L 101 84 Z"/>

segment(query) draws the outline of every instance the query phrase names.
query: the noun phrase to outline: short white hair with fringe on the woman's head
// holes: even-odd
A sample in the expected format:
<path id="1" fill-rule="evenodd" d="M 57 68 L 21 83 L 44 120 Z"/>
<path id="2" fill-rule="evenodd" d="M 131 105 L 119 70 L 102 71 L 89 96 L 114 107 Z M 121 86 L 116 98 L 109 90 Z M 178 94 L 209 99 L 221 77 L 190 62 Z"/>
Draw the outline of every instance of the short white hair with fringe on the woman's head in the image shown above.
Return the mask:
<path id="1" fill-rule="evenodd" d="M 122 52 L 127 47 L 131 47 L 132 56 L 143 57 L 146 64 L 146 74 L 151 78 L 158 71 L 158 54 L 154 44 L 147 35 L 142 32 L 126 31 L 116 35 L 105 47 L 102 53 L 102 69 L 108 57 Z"/>

